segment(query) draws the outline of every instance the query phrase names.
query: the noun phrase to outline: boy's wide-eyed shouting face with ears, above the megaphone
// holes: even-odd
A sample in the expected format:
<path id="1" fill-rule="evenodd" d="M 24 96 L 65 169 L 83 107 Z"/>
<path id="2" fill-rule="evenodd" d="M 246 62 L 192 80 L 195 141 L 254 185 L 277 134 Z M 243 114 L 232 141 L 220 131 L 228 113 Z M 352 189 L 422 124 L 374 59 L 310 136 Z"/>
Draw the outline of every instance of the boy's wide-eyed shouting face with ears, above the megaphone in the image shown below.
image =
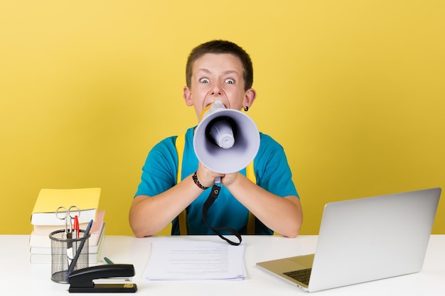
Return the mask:
<path id="1" fill-rule="evenodd" d="M 195 60 L 191 87 L 184 87 L 187 106 L 194 106 L 198 121 L 206 106 L 220 99 L 227 109 L 240 110 L 251 106 L 256 97 L 254 89 L 244 89 L 242 62 L 228 53 L 207 53 Z"/>

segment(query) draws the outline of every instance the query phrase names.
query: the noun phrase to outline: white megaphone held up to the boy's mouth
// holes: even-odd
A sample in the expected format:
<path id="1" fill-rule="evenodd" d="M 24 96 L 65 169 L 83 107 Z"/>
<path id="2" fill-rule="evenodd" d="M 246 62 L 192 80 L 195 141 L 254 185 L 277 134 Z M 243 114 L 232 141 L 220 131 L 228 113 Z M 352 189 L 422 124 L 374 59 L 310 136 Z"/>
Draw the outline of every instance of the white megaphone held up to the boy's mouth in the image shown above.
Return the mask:
<path id="1" fill-rule="evenodd" d="M 223 102 L 216 100 L 202 114 L 193 149 L 209 170 L 220 174 L 238 172 L 257 155 L 259 131 L 249 116 L 240 110 L 225 109 Z"/>

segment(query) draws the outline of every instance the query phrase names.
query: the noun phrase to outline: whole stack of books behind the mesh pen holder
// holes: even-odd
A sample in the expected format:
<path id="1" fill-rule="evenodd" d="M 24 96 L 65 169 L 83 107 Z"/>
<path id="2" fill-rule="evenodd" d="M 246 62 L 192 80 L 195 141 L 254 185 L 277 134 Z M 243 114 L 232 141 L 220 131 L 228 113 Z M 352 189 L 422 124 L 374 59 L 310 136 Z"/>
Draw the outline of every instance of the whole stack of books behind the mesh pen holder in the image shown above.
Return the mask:
<path id="1" fill-rule="evenodd" d="M 43 189 L 39 192 L 31 214 L 33 231 L 29 237 L 29 251 L 31 263 L 51 263 L 51 239 L 53 231 L 65 231 L 65 219 L 59 219 L 63 215 L 56 215 L 59 207 L 69 209 L 71 206 L 79 208 L 80 213 L 72 210 L 72 215 L 77 215 L 80 229 L 85 230 L 87 224 L 93 220 L 88 239 L 88 261 L 98 263 L 100 253 L 104 245 L 104 210 L 98 210 L 100 188 L 82 189 Z"/>

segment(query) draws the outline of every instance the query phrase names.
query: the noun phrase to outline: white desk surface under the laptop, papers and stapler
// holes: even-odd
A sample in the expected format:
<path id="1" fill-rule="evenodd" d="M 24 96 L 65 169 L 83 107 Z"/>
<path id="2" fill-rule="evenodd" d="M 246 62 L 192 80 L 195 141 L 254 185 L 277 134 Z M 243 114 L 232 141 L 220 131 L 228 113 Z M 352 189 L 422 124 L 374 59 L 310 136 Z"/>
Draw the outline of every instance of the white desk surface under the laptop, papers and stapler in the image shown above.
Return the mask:
<path id="1" fill-rule="evenodd" d="M 0 235 L 1 295 L 76 295 L 68 293 L 68 284 L 58 284 L 50 280 L 50 264 L 29 263 L 28 238 L 26 235 Z M 280 236 L 243 236 L 246 280 L 146 281 L 142 275 L 149 259 L 151 242 L 161 239 L 221 240 L 218 236 L 154 236 L 144 239 L 106 236 L 102 258 L 107 256 L 114 263 L 134 265 L 136 275 L 133 282 L 138 286 L 136 295 L 445 295 L 445 235 L 431 236 L 424 267 L 420 273 L 316 293 L 304 292 L 264 273 L 255 263 L 313 253 L 317 236 L 299 236 L 296 239 Z"/>

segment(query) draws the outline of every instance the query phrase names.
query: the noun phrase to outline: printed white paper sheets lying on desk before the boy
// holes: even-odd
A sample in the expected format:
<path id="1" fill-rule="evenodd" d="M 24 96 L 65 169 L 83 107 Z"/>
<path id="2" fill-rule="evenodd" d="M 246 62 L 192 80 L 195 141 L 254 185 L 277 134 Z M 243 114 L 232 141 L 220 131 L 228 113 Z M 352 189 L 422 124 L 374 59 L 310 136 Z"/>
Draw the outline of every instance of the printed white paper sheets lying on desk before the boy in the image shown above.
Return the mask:
<path id="1" fill-rule="evenodd" d="M 243 280 L 244 245 L 208 241 L 155 241 L 145 280 Z"/>

